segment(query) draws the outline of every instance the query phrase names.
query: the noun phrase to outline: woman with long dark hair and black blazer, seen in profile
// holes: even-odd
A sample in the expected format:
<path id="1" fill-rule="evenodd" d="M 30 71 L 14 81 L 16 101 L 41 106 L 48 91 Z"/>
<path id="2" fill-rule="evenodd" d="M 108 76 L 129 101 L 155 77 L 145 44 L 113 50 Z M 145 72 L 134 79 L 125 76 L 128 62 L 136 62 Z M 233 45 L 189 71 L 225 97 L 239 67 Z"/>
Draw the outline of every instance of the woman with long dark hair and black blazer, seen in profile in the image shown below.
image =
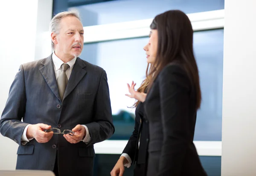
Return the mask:
<path id="1" fill-rule="evenodd" d="M 149 121 L 147 176 L 207 176 L 193 144 L 201 89 L 192 25 L 186 14 L 171 10 L 157 15 L 150 28 L 144 49 L 154 68 L 145 102 L 139 99 Z"/>

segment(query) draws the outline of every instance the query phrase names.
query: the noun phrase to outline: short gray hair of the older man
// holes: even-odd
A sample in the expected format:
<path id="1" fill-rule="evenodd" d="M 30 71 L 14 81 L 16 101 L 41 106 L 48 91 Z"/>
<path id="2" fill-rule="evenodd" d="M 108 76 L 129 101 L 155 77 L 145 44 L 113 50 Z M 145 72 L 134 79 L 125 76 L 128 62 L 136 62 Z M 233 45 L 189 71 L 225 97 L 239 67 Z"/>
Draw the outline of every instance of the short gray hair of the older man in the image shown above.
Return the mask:
<path id="1" fill-rule="evenodd" d="M 77 17 L 79 19 L 79 21 L 81 22 L 81 18 L 79 16 L 79 12 L 78 11 L 68 11 L 68 12 L 60 12 L 58 14 L 56 14 L 51 22 L 50 22 L 50 33 L 54 32 L 55 34 L 59 33 L 59 26 L 61 23 L 61 19 L 64 17 Z M 82 22 L 81 22 L 82 23 Z M 52 42 L 52 49 L 54 49 L 54 43 Z"/>

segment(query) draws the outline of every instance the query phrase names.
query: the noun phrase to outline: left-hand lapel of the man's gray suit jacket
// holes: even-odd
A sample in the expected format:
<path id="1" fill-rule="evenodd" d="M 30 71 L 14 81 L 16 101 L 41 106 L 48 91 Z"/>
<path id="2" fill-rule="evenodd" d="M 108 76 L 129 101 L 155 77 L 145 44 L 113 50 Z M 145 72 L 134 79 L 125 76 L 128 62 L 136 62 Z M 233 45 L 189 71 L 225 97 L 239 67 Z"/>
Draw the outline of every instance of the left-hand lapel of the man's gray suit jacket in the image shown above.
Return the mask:
<path id="1" fill-rule="evenodd" d="M 48 86 L 54 93 L 54 95 L 61 101 L 59 91 L 58 91 L 58 85 L 56 81 L 55 71 L 53 67 L 52 62 L 52 55 L 50 55 L 48 58 L 44 59 L 41 64 L 43 65 L 42 68 L 40 68 L 40 72 L 44 77 L 44 80 L 47 82 Z"/>

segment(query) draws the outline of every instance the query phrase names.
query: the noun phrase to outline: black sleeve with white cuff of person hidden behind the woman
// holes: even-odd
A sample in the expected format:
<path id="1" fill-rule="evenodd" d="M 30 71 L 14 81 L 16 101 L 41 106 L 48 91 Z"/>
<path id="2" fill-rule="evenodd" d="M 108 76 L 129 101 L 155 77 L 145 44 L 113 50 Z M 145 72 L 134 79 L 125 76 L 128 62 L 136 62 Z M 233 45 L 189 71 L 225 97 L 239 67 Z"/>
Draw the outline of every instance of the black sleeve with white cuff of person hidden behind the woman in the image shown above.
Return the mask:
<path id="1" fill-rule="evenodd" d="M 143 106 L 143 105 L 141 105 Z M 139 112 L 135 113 L 135 125 L 134 125 L 134 131 L 132 132 L 132 135 L 130 136 L 128 143 L 125 146 L 125 149 L 122 153 L 127 153 L 131 161 L 134 162 L 134 157 L 136 153 L 136 145 L 137 145 L 137 138 L 139 133 L 139 127 L 140 127 L 140 115 Z"/>

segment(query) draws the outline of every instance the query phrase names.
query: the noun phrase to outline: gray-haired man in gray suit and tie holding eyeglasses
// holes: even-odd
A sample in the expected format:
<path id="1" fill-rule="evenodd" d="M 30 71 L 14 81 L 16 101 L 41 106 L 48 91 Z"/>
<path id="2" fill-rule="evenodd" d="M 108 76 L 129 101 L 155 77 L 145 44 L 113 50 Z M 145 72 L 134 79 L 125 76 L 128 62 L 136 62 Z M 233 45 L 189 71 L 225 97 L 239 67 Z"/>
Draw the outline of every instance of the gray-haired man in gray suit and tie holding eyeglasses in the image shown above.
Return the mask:
<path id="1" fill-rule="evenodd" d="M 16 169 L 92 176 L 93 144 L 114 133 L 107 75 L 79 58 L 84 30 L 76 12 L 55 15 L 50 30 L 54 52 L 20 66 L 0 132 L 19 144 Z"/>

